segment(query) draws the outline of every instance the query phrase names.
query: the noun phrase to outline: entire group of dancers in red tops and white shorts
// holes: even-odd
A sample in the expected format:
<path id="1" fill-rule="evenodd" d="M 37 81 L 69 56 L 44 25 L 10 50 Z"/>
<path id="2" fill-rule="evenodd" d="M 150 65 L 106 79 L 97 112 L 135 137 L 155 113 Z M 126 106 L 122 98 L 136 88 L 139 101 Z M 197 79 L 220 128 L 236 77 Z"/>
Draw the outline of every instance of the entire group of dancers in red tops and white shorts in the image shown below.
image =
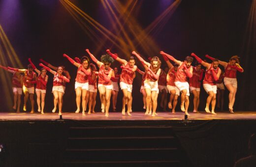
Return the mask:
<path id="1" fill-rule="evenodd" d="M 243 72 L 243 68 L 239 65 L 239 57 L 232 56 L 228 62 L 218 60 L 214 57 L 206 55 L 212 62 L 208 63 L 202 60 L 194 53 L 191 56 L 187 56 L 184 61 L 177 60 L 173 56 L 160 52 L 168 67 L 164 70 L 160 69 L 161 61 L 158 56 L 149 58 L 149 61 L 143 59 L 139 54 L 133 51 L 128 60 L 120 58 L 117 54 L 113 54 L 110 50 L 106 50 L 106 54 L 100 57 L 100 60 L 94 56 L 89 49 L 85 50 L 91 57 L 91 60 L 96 63 L 90 62 L 88 56 L 82 56 L 81 58 L 75 57 L 74 59 L 63 55 L 70 63 L 77 67 L 77 74 L 75 78 L 75 92 L 76 92 L 76 106 L 75 113 L 80 112 L 81 98 L 82 98 L 82 115 L 85 115 L 85 111 L 88 105 L 88 114 L 95 112 L 96 94 L 99 91 L 101 112 L 105 113 L 105 116 L 109 116 L 110 98 L 112 95 L 113 111 L 116 111 L 117 95 L 119 91 L 118 82 L 121 90 L 123 91 L 123 107 L 122 114 L 131 115 L 132 104 L 132 83 L 135 78 L 135 72 L 139 72 L 142 75 L 142 83 L 140 92 L 143 94 L 145 114 L 156 116 L 156 110 L 158 105 L 158 94 L 161 93 L 160 106 L 163 110 L 166 110 L 167 105 L 167 93 L 170 93 L 170 100 L 168 107 L 172 109 L 172 113 L 175 113 L 177 99 L 181 97 L 181 111 L 190 115 L 189 108 L 189 96 L 190 92 L 193 94 L 193 112 L 198 112 L 199 96 L 200 96 L 200 84 L 203 80 L 203 87 L 208 94 L 206 100 L 205 111 L 208 113 L 216 114 L 216 94 L 217 87 L 219 95 L 223 96 L 224 85 L 229 91 L 228 95 L 228 109 L 230 113 L 233 112 L 233 106 L 235 102 L 235 95 L 237 90 L 237 71 Z M 136 57 L 136 58 L 135 58 Z M 195 66 L 192 66 L 193 59 L 196 59 Z M 139 70 L 135 65 L 136 59 L 138 59 L 144 70 Z M 118 74 L 118 68 L 114 70 L 110 67 L 113 61 L 118 61 L 121 64 L 122 72 Z M 171 61 L 170 61 L 171 60 Z M 31 113 L 34 112 L 34 91 L 36 93 L 38 111 L 44 113 L 44 99 L 46 94 L 46 84 L 48 81 L 47 71 L 53 74 L 53 88 L 52 93 L 54 95 L 54 109 L 52 112 L 56 112 L 59 109 L 59 115 L 62 114 L 63 96 L 65 92 L 65 85 L 70 81 L 70 74 L 64 66 L 55 67 L 52 64 L 40 59 L 42 63 L 41 70 L 38 70 L 33 64 L 31 58 L 29 58 L 30 64 L 28 69 L 17 69 L 12 67 L 4 67 L 0 65 L 0 68 L 13 74 L 12 88 L 14 94 L 13 109 L 20 112 L 21 95 L 22 90 L 24 92 L 24 106 L 23 111 L 27 111 L 27 102 L 31 102 Z M 219 68 L 219 64 L 224 67 L 224 71 Z M 206 69 L 202 69 L 204 66 Z M 36 75 L 36 73 L 37 75 Z M 205 73 L 205 74 L 204 74 Z M 204 79 L 203 79 L 204 76 Z M 223 84 L 224 82 L 224 84 Z M 34 89 L 34 84 L 35 89 Z M 220 99 L 220 98 L 218 98 Z M 223 108 L 223 100 L 220 102 Z M 210 110 L 211 105 L 211 110 Z M 127 108 L 126 108 L 127 107 Z"/>

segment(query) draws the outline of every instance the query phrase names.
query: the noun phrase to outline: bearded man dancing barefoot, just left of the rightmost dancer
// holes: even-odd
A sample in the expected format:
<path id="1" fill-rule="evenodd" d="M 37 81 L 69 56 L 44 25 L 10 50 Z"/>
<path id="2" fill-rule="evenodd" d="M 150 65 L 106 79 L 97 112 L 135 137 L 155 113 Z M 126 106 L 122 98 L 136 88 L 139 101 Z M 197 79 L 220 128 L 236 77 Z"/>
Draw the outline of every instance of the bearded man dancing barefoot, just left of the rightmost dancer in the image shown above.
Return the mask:
<path id="1" fill-rule="evenodd" d="M 215 105 L 216 105 L 216 93 L 217 93 L 216 82 L 219 80 L 219 77 L 222 72 L 222 70 L 218 67 L 219 60 L 213 59 L 213 62 L 210 64 L 210 63 L 204 62 L 201 58 L 196 56 L 194 53 L 192 53 L 191 56 L 195 57 L 195 59 L 199 63 L 201 63 L 204 67 L 206 67 L 205 76 L 203 80 L 203 87 L 208 94 L 205 111 L 208 113 L 216 114 L 216 112 L 214 111 Z M 212 104 L 212 111 L 209 110 L 210 103 Z"/>

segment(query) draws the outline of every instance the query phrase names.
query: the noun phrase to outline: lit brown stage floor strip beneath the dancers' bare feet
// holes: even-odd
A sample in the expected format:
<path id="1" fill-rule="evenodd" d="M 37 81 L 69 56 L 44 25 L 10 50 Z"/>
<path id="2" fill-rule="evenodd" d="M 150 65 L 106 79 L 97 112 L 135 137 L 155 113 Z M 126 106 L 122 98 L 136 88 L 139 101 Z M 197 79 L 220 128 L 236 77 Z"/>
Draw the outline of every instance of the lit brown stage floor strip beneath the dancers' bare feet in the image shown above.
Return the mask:
<path id="1" fill-rule="evenodd" d="M 64 112 L 62 115 L 63 119 L 72 120 L 183 120 L 184 112 L 176 112 L 172 114 L 171 112 L 157 112 L 156 117 L 151 115 L 145 115 L 142 111 L 133 111 L 131 116 L 122 115 L 121 112 L 109 112 L 109 117 L 105 117 L 105 113 L 96 112 L 92 114 L 87 114 L 82 116 L 82 113 L 74 112 Z M 217 115 L 211 113 L 206 113 L 204 111 L 199 111 L 199 113 L 189 112 L 189 120 L 212 120 L 212 119 L 256 119 L 256 111 L 236 111 L 231 114 L 226 112 L 217 112 Z M 0 121 L 4 120 L 56 120 L 60 119 L 58 113 L 45 112 L 41 114 L 40 112 L 35 113 L 25 113 L 25 112 L 0 112 Z"/>

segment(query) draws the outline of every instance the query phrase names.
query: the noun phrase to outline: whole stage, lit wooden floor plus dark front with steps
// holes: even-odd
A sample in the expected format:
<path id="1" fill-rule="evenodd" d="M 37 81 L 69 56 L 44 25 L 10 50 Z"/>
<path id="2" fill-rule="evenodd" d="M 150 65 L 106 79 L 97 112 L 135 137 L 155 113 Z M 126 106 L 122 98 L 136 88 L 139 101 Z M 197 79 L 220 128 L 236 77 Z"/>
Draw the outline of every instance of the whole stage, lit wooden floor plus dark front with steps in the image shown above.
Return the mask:
<path id="1" fill-rule="evenodd" d="M 256 133 L 256 111 L 217 112 L 217 115 L 190 112 L 186 120 L 184 112 L 157 113 L 152 117 L 138 111 L 131 112 L 132 116 L 110 112 L 109 117 L 105 117 L 101 112 L 86 116 L 64 112 L 60 119 L 58 113 L 1 112 L 0 144 L 4 145 L 4 152 L 0 153 L 0 166 L 75 167 L 87 163 L 87 166 L 157 167 L 176 163 L 179 167 L 230 167 L 236 159 L 245 156 L 248 139 Z M 75 140 L 75 144 L 71 140 Z M 172 142 L 176 142 L 175 147 L 181 151 L 173 152 L 174 146 L 169 145 Z M 75 151 L 83 157 L 79 159 Z M 96 151 L 109 154 L 112 159 L 104 159 L 105 154 Z M 70 158 L 72 154 L 76 157 Z M 147 157 L 139 159 L 142 154 Z M 168 159 L 174 157 L 173 154 L 183 158 Z"/>

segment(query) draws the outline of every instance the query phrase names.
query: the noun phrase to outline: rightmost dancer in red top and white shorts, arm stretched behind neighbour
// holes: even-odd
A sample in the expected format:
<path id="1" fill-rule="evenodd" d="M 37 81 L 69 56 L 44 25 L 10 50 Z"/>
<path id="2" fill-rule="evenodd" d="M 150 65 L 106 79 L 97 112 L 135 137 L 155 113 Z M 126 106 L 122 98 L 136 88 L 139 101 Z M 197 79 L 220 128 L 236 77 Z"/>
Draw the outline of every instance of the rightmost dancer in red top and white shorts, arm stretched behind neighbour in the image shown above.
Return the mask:
<path id="1" fill-rule="evenodd" d="M 213 60 L 214 58 L 206 55 L 207 58 L 210 58 Z M 239 57 L 238 56 L 232 56 L 229 59 L 229 62 L 220 61 L 219 63 L 224 67 L 225 69 L 225 77 L 224 77 L 224 84 L 229 91 L 228 95 L 228 109 L 230 113 L 234 113 L 233 106 L 235 103 L 235 94 L 237 91 L 237 80 L 236 80 L 236 71 L 244 72 L 244 69 L 239 65 Z"/>

